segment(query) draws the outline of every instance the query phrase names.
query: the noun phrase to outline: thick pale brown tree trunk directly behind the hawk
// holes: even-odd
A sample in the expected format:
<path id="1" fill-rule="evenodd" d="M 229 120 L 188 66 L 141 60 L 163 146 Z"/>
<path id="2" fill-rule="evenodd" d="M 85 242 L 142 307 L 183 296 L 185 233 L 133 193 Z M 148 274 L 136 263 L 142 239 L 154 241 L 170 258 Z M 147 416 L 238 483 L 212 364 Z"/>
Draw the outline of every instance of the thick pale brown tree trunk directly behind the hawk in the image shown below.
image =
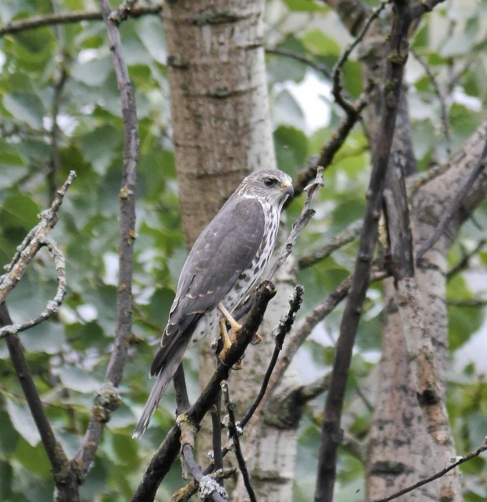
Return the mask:
<path id="1" fill-rule="evenodd" d="M 276 168 L 262 47 L 263 2 L 179 1 L 167 3 L 164 30 L 168 49 L 176 170 L 187 247 L 250 171 Z M 265 274 L 264 274 L 265 275 Z M 269 362 L 273 327 L 288 310 L 293 290 L 290 266 L 276 277 L 278 294 L 270 303 L 244 368 L 229 380 L 237 420 L 254 400 Z M 203 345 L 203 344 L 201 344 Z M 200 354 L 200 384 L 215 366 L 214 353 Z M 256 463 L 250 462 L 257 498 L 291 500 L 296 432 L 271 424 L 252 437 Z M 242 441 L 245 443 L 247 435 Z M 211 449 L 211 424 L 198 435 L 200 459 Z M 229 454 L 225 457 L 230 458 Z M 247 457 L 248 462 L 251 460 Z M 241 500 L 245 490 L 236 490 Z"/>

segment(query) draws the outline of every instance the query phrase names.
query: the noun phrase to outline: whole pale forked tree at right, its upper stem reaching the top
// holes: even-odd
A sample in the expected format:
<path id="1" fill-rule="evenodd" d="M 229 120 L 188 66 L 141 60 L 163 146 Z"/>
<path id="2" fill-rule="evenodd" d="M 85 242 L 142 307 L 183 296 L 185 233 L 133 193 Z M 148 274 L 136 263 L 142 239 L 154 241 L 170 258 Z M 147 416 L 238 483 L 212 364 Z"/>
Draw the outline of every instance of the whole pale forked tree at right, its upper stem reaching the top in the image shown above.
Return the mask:
<path id="1" fill-rule="evenodd" d="M 338 0 L 329 4 L 352 32 L 354 28 L 347 1 Z M 384 40 L 388 24 L 388 19 L 377 21 L 360 48 L 364 85 L 374 84 L 367 108 L 367 132 L 372 145 L 383 106 L 381 82 L 387 57 Z M 414 28 L 413 25 L 412 30 Z M 468 169 L 473 169 L 474 159 L 482 151 L 483 137 L 484 126 L 481 126 L 465 148 L 452 159 L 447 170 L 449 174 L 445 172 L 432 179 L 416 194 L 410 214 L 411 225 L 406 222 L 413 230 L 409 241 L 411 247 L 417 248 L 431 234 L 440 216 L 453 202 Z M 401 208 L 394 207 L 398 197 L 391 185 L 393 173 L 402 172 L 407 177 L 415 172 L 406 87 L 403 88 L 398 109 L 389 171 L 385 206 L 388 211 L 401 212 Z M 383 357 L 379 365 L 380 389 L 367 468 L 367 495 L 370 498 L 381 497 L 412 484 L 441 468 L 448 457 L 455 456 L 445 408 L 448 357 L 446 253 L 463 219 L 485 196 L 481 188 L 483 184 L 477 183 L 474 189 L 476 195 L 473 196 L 472 192 L 468 197 L 468 210 L 462 206 L 448 228 L 447 237 L 440 239 L 425 255 L 416 271 L 412 249 L 409 249 L 409 258 L 406 263 L 403 261 L 402 269 L 392 270 L 395 280 L 389 279 L 384 283 Z M 406 216 L 407 212 L 407 208 L 402 211 Z M 401 231 L 397 232 L 396 238 L 401 240 L 401 250 L 408 252 L 404 248 L 407 239 L 400 234 Z M 394 236 L 390 235 L 390 238 Z M 392 265 L 398 264 L 395 262 Z M 462 500 L 458 469 L 399 498 L 403 501 L 427 499 L 445 502 Z"/>

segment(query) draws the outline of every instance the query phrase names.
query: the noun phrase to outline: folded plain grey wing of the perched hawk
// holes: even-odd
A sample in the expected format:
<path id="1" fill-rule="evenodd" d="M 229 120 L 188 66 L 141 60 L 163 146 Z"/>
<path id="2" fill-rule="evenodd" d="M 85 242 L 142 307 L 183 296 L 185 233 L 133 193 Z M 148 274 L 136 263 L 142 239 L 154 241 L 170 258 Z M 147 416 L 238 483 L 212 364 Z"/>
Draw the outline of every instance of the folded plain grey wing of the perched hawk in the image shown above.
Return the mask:
<path id="1" fill-rule="evenodd" d="M 256 199 L 230 198 L 201 232 L 186 259 L 161 348 L 151 366 L 157 374 L 198 320 L 213 310 L 250 267 L 264 236 L 265 217 Z"/>

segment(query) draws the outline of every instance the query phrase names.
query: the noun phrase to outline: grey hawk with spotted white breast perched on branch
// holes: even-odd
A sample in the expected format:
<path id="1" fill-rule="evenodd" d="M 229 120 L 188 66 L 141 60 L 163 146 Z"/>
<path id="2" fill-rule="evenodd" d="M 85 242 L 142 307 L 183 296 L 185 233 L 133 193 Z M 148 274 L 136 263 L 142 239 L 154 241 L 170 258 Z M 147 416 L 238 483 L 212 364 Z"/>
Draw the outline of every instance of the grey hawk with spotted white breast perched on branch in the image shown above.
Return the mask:
<path id="1" fill-rule="evenodd" d="M 231 313 L 264 271 L 276 242 L 281 209 L 293 196 L 282 171 L 256 171 L 245 178 L 201 232 L 179 277 L 161 348 L 150 369 L 156 381 L 133 437 L 147 429 L 157 405 L 191 341 L 219 327 L 225 353 L 240 329 Z M 220 357 L 221 357 L 220 353 Z"/>

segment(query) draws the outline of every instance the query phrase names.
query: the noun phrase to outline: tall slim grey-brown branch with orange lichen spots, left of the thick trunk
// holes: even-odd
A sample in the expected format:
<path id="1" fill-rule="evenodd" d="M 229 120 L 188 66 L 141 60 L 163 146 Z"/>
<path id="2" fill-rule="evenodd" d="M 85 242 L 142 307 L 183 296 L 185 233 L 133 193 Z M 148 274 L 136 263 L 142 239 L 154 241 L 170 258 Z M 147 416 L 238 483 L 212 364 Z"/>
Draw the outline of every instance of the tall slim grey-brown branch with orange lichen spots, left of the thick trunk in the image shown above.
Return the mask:
<path id="1" fill-rule="evenodd" d="M 115 343 L 106 369 L 103 387 L 99 393 L 99 395 L 103 396 L 103 399 L 97 402 L 95 397 L 95 405 L 91 411 L 88 428 L 81 447 L 76 454 L 76 458 L 81 462 L 84 474 L 86 474 L 93 461 L 101 441 L 104 424 L 109 420 L 110 412 L 118 402 L 116 388 L 121 381 L 129 345 L 132 340 L 132 264 L 136 237 L 135 191 L 139 134 L 135 92 L 130 81 L 127 65 L 122 56 L 117 23 L 109 19 L 111 8 L 108 0 L 100 0 L 100 8 L 106 25 L 116 82 L 121 98 L 124 122 L 124 161 L 121 189 L 118 195 L 120 198 L 118 215 L 120 240 L 118 246 L 119 275 L 116 298 Z M 100 413 L 100 407 L 104 413 Z"/>

